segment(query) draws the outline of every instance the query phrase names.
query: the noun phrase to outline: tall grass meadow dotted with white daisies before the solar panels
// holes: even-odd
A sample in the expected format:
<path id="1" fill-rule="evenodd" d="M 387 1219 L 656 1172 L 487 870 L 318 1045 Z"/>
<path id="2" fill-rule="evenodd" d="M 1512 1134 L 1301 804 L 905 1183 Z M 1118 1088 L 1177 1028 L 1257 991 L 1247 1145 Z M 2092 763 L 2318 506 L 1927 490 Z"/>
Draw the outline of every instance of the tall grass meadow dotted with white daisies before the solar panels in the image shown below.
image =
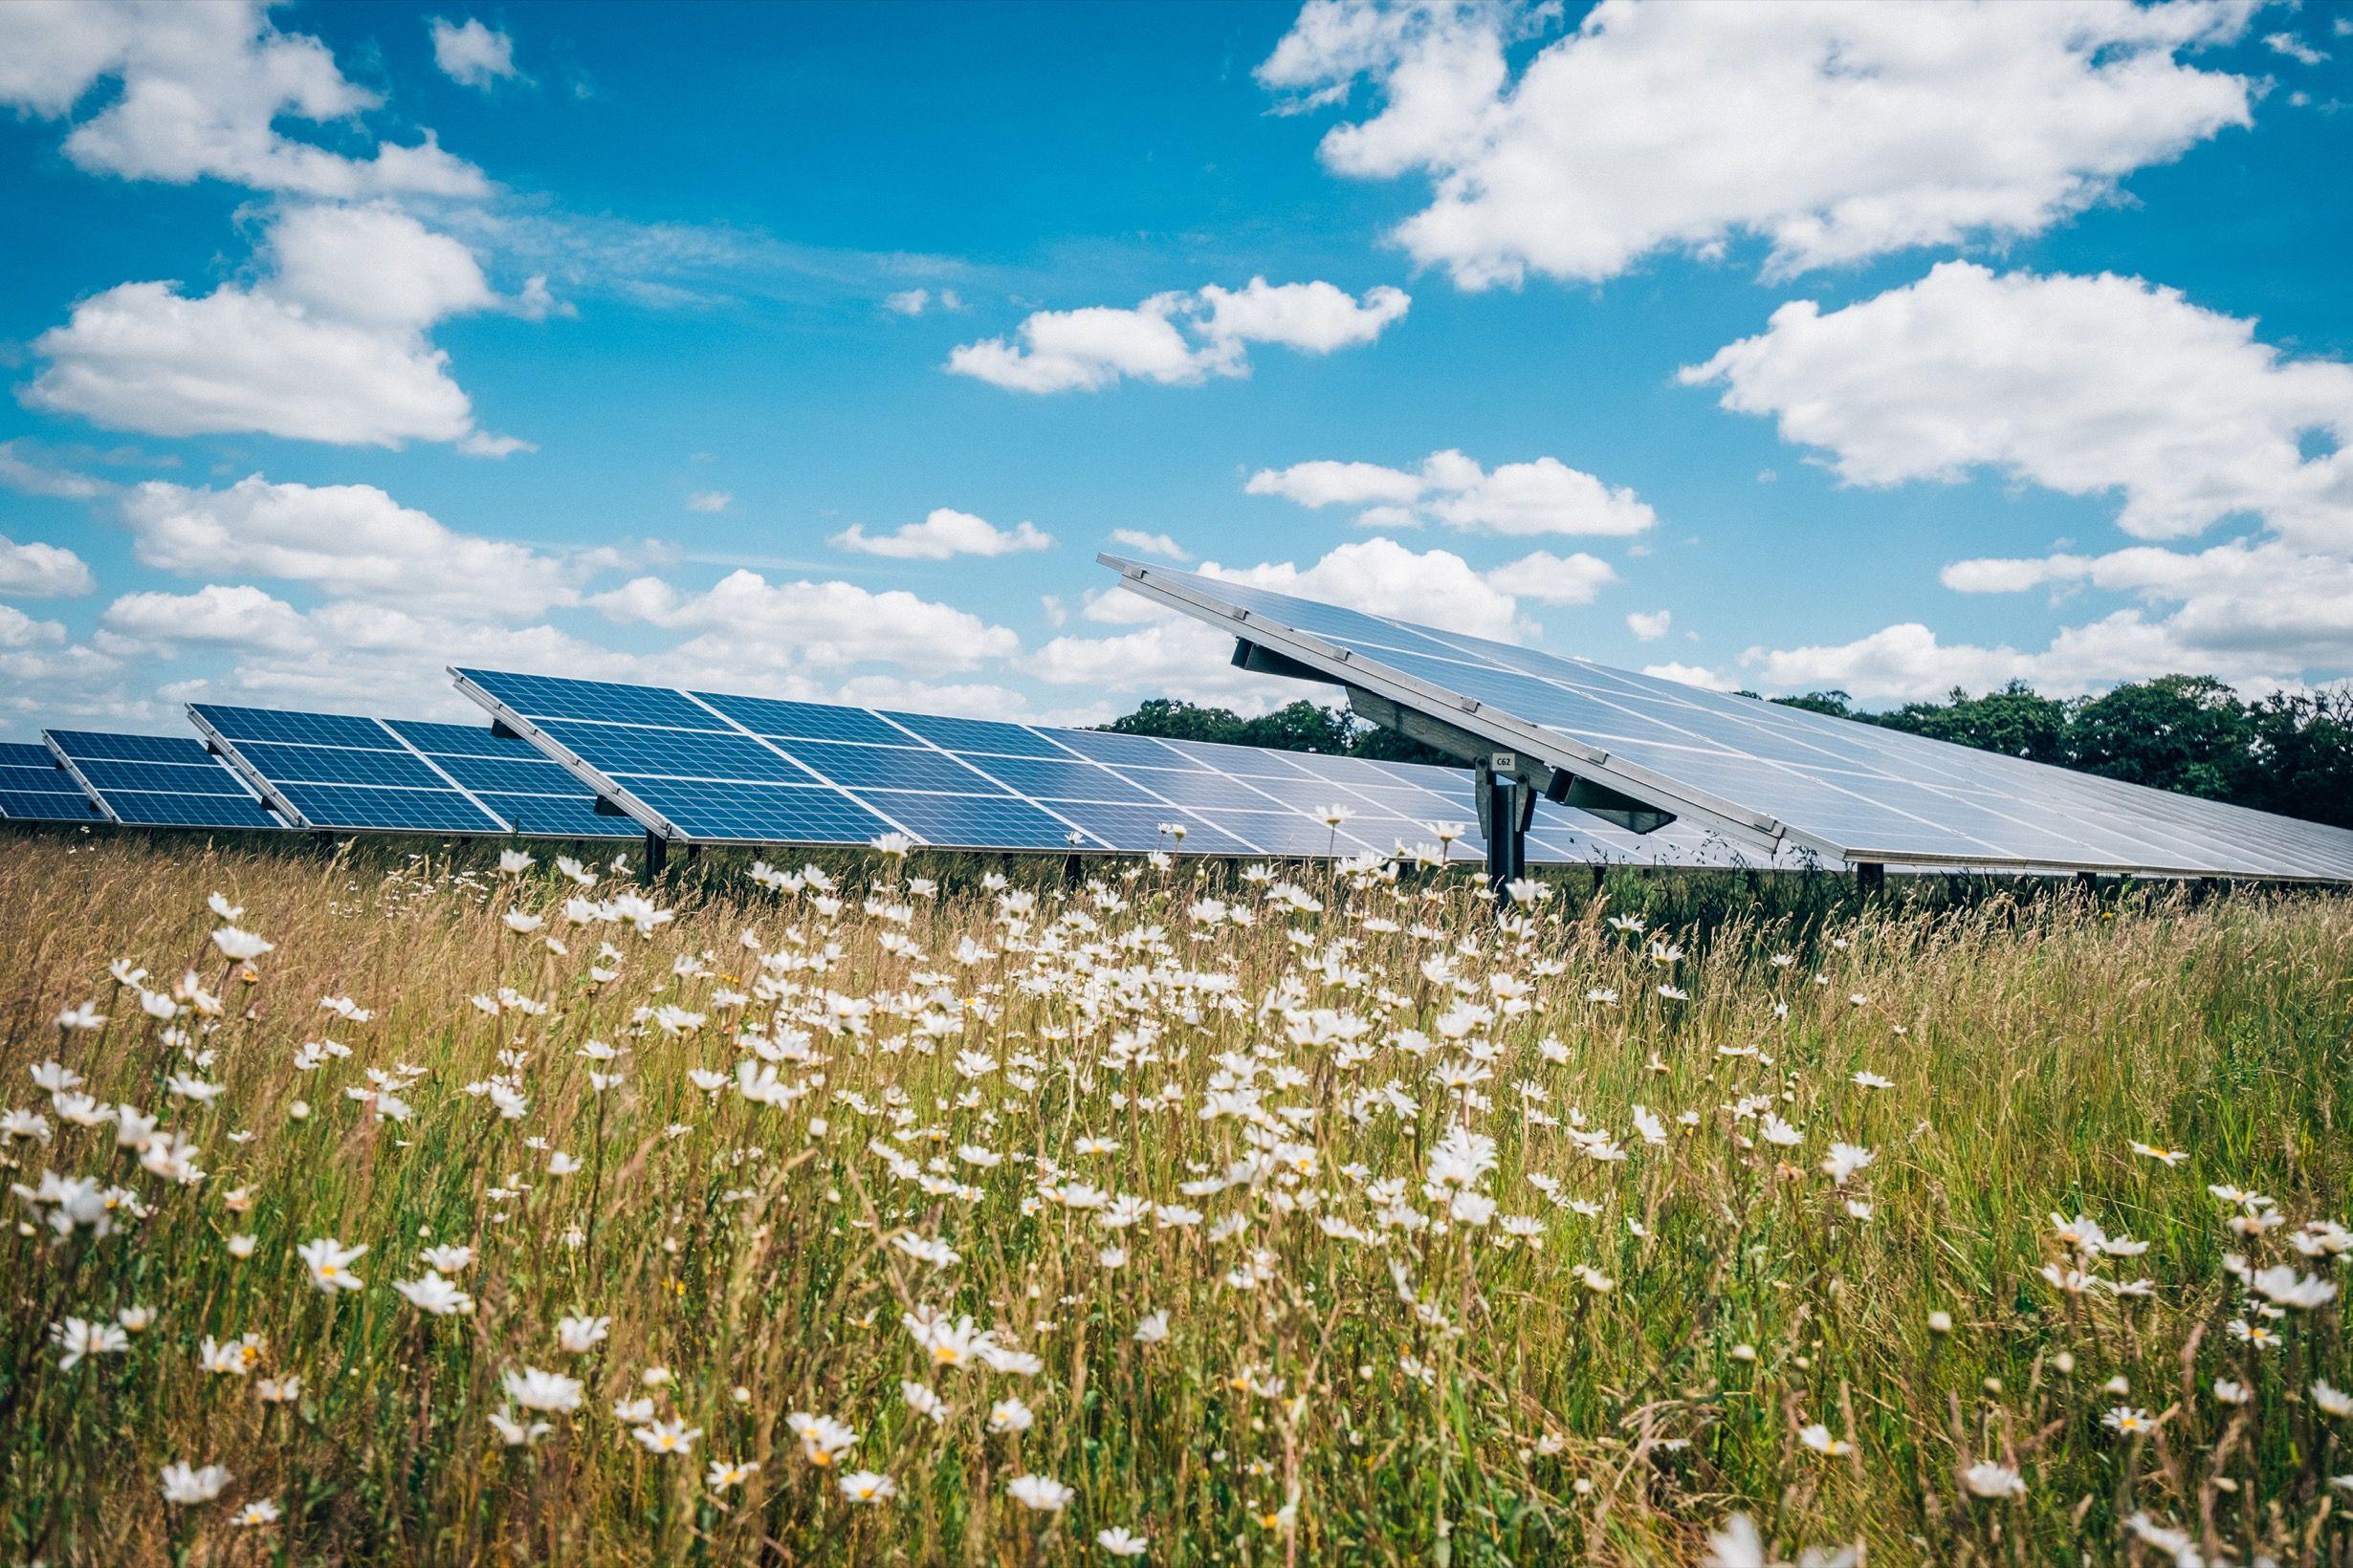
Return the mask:
<path id="1" fill-rule="evenodd" d="M 12 842 L 0 1561 L 2353 1556 L 2344 898 L 838 867 Z"/>

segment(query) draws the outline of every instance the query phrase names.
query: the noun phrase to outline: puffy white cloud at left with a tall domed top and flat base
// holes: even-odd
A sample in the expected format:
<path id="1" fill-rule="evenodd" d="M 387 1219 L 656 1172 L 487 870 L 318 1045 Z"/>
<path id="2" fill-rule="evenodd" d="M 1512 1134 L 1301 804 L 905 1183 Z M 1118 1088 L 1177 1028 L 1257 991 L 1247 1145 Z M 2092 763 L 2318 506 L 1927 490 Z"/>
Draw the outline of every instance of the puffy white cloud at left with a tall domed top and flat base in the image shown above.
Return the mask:
<path id="1" fill-rule="evenodd" d="M 148 435 L 522 447 L 475 430 L 449 355 L 426 339 L 499 303 L 464 244 L 391 207 L 296 207 L 266 254 L 273 270 L 252 287 L 125 282 L 85 299 L 33 341 L 47 367 L 24 400 Z"/>

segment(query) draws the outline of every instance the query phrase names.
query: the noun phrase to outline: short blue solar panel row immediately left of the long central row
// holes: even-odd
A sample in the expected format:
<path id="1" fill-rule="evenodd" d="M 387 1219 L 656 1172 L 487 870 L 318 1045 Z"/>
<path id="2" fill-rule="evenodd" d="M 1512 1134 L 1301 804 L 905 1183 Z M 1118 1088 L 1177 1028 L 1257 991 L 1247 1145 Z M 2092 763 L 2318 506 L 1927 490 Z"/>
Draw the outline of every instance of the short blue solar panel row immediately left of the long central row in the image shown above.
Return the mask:
<path id="1" fill-rule="evenodd" d="M 299 827 L 635 837 L 527 741 L 489 726 L 193 703 L 214 750 Z"/>

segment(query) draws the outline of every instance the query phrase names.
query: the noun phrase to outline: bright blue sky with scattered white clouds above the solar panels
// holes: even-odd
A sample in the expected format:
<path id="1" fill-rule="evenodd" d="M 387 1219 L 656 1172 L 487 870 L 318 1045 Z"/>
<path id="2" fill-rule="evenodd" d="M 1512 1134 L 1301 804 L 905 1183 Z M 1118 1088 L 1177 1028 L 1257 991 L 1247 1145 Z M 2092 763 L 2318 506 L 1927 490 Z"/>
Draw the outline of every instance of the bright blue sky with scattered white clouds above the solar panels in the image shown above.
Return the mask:
<path id="1" fill-rule="evenodd" d="M 2341 679 L 2346 33 L 0 7 L 0 724 L 1289 696 L 1139 536 L 1875 705 Z"/>

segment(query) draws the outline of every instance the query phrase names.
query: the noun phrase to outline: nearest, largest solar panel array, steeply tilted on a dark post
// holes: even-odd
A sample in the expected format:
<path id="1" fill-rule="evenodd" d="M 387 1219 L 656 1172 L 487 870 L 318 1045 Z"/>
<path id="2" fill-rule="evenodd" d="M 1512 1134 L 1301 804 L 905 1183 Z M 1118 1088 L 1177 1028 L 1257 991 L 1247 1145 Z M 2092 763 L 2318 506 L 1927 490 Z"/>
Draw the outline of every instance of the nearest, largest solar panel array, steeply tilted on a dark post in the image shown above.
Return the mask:
<path id="1" fill-rule="evenodd" d="M 1753 844 L 1826 860 L 2353 879 L 2353 832 L 1685 686 L 1191 571 L 1127 588 L 1289 661 Z"/>

